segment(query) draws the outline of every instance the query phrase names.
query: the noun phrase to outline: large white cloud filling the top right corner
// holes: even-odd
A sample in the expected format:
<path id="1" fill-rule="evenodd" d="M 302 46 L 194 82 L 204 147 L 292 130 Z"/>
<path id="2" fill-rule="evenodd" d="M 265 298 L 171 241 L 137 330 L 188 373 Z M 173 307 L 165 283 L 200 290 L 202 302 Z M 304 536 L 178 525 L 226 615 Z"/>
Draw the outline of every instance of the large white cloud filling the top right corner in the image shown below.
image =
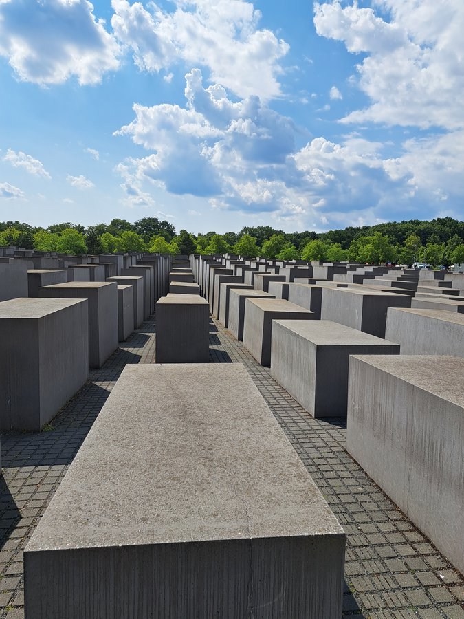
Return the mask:
<path id="1" fill-rule="evenodd" d="M 318 34 L 365 54 L 357 71 L 371 105 L 343 122 L 461 129 L 464 3 L 375 0 L 373 6 L 342 6 L 339 0 L 315 5 Z M 377 7 L 389 21 L 375 14 Z"/>

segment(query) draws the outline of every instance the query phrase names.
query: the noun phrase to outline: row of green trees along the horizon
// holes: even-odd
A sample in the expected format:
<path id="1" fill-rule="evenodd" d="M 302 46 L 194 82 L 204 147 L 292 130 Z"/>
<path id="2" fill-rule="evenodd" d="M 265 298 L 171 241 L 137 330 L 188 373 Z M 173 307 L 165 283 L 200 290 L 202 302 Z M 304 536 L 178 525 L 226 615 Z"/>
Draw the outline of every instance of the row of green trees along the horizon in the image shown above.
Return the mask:
<path id="1" fill-rule="evenodd" d="M 415 262 L 433 266 L 464 263 L 464 221 L 442 217 L 432 221 L 392 221 L 375 226 L 349 226 L 316 233 L 283 232 L 272 226 L 245 226 L 240 232 L 214 231 L 193 235 L 176 230 L 168 221 L 144 217 L 131 224 L 112 219 L 109 224 L 81 226 L 54 224 L 34 228 L 19 221 L 0 223 L 0 246 L 21 246 L 45 252 L 101 254 L 159 252 L 171 254 L 235 254 L 280 260 L 324 260 L 361 263 Z"/>

